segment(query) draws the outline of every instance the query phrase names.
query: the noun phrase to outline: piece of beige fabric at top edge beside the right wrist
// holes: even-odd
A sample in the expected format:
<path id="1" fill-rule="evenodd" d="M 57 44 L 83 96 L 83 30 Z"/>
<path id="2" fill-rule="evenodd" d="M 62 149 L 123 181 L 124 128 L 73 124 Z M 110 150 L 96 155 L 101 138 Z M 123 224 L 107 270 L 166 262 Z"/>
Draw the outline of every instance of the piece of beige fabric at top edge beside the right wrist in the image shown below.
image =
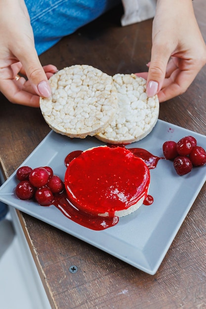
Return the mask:
<path id="1" fill-rule="evenodd" d="M 127 26 L 155 16 L 157 0 L 122 0 L 124 15 L 122 26 Z"/>

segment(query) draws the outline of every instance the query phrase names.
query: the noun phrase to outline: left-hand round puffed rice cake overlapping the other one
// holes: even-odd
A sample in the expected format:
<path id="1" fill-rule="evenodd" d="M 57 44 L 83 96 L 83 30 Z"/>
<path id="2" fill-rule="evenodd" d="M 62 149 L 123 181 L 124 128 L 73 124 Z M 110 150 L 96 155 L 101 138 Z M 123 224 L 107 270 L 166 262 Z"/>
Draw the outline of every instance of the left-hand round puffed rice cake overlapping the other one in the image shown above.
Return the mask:
<path id="1" fill-rule="evenodd" d="M 101 132 L 118 109 L 113 78 L 89 65 L 73 65 L 49 79 L 52 95 L 40 99 L 41 113 L 57 133 L 85 138 Z"/>

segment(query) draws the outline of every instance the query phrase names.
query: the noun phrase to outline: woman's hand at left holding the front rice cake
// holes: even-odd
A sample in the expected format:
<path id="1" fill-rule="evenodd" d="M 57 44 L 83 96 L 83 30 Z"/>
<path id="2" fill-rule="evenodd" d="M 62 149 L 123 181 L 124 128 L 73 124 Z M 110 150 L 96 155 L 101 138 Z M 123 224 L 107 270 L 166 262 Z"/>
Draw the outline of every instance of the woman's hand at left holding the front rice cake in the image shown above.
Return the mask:
<path id="1" fill-rule="evenodd" d="M 51 94 L 48 78 L 56 71 L 41 66 L 24 0 L 0 0 L 0 91 L 12 103 L 39 107 L 40 96 Z"/>

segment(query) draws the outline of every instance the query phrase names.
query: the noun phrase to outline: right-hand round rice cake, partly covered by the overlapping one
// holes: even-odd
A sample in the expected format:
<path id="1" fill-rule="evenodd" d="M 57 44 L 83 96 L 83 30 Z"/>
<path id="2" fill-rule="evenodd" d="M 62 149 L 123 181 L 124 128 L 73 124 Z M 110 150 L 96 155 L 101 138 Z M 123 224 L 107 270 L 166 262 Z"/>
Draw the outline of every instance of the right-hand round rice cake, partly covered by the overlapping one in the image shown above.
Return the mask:
<path id="1" fill-rule="evenodd" d="M 158 96 L 149 98 L 146 80 L 134 74 L 116 74 L 113 81 L 118 91 L 118 111 L 95 137 L 111 144 L 139 141 L 152 131 L 158 120 Z"/>

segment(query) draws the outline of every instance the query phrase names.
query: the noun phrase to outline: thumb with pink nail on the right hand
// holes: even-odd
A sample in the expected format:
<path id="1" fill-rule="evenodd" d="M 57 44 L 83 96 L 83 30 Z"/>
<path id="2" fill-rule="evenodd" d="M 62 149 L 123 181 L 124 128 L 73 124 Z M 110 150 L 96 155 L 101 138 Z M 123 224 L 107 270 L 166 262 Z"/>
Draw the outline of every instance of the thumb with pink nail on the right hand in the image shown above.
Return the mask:
<path id="1" fill-rule="evenodd" d="M 163 46 L 153 45 L 146 86 L 148 97 L 153 97 L 161 90 L 169 57 Z"/>

